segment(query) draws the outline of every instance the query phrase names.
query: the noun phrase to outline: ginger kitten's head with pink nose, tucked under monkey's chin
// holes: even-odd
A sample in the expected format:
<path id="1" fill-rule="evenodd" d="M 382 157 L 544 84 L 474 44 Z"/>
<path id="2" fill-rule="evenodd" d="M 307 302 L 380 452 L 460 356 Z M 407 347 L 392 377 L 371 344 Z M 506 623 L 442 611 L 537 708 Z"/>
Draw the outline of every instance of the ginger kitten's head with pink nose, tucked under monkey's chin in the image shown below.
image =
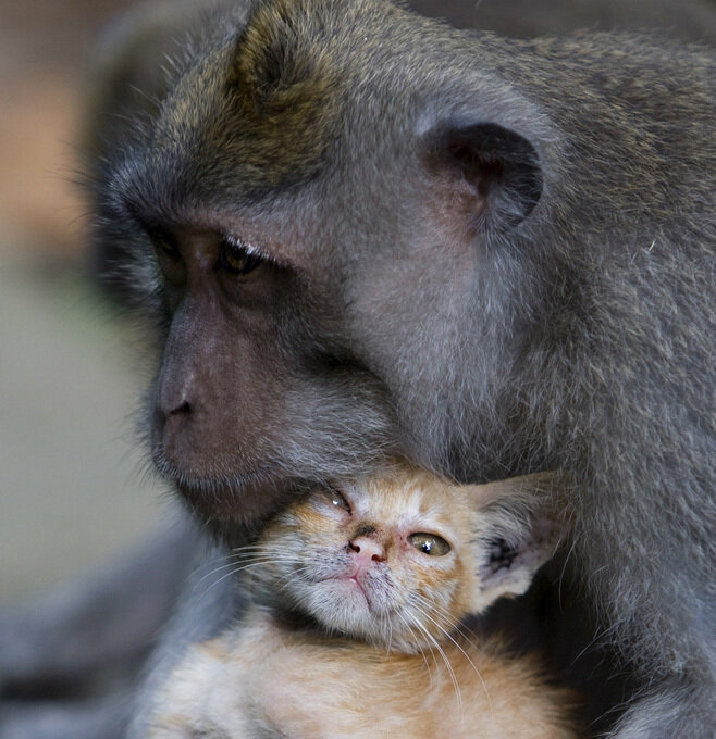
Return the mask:
<path id="1" fill-rule="evenodd" d="M 458 486 L 400 467 L 316 490 L 267 527 L 247 573 L 329 630 L 415 651 L 529 588 L 564 529 L 543 515 L 556 479 Z"/>

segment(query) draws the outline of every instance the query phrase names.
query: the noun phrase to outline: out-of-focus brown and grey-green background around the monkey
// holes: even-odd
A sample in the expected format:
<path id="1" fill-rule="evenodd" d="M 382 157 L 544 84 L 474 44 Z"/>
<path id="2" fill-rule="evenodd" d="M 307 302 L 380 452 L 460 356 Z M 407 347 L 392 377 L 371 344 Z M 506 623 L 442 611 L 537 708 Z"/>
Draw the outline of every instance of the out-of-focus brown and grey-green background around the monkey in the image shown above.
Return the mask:
<path id="1" fill-rule="evenodd" d="M 131 548 L 166 505 L 132 428 L 149 377 L 140 341 L 88 267 L 74 184 L 94 39 L 131 4 L 0 0 L 0 606 Z M 716 40 L 715 0 L 412 4 L 517 36 L 662 27 Z"/>

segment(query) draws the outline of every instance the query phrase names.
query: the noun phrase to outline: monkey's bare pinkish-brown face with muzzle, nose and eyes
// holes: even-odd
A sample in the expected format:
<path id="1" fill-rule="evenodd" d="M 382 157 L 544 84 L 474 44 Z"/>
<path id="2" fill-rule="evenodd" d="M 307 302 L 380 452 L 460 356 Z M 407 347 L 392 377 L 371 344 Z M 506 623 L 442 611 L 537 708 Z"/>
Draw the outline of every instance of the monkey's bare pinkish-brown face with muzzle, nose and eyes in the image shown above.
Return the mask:
<path id="1" fill-rule="evenodd" d="M 325 346 L 335 309 L 310 304 L 310 275 L 266 238 L 149 231 L 169 318 L 152 455 L 202 516 L 262 517 L 293 486 L 388 451 L 380 383 Z"/>

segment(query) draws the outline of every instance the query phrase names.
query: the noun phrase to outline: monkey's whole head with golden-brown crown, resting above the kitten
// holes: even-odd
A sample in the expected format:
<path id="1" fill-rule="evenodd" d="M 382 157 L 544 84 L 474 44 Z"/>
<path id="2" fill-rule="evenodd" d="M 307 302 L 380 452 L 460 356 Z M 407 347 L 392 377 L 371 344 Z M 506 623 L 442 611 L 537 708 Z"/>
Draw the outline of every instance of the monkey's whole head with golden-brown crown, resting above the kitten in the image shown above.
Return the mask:
<path id="1" fill-rule="evenodd" d="M 513 472 L 495 440 L 545 300 L 548 123 L 391 2 L 239 15 L 100 183 L 162 330 L 157 465 L 225 522 L 386 455 Z"/>

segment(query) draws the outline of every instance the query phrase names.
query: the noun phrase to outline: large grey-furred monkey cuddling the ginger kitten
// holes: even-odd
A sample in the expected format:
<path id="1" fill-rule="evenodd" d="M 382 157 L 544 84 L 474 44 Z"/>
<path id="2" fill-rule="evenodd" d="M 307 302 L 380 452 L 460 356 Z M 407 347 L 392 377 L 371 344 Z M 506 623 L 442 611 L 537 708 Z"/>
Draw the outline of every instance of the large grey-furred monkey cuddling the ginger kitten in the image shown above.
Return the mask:
<path id="1" fill-rule="evenodd" d="M 97 167 L 165 340 L 159 467 L 226 541 L 387 453 L 569 469 L 573 561 L 641 676 L 614 736 L 713 737 L 712 50 L 387 0 L 226 2 L 195 35 Z M 227 236 L 262 272 L 231 281 Z"/>

